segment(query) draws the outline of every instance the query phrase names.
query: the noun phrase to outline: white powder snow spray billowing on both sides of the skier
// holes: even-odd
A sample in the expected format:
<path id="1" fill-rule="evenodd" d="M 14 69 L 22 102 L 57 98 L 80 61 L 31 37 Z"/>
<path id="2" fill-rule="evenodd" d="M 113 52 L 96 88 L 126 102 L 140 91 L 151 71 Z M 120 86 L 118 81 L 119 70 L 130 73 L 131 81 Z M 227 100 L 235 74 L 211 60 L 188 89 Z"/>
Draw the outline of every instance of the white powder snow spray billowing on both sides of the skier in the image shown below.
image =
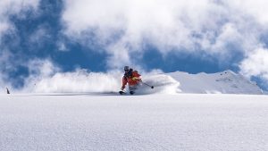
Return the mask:
<path id="1" fill-rule="evenodd" d="M 27 80 L 24 92 L 34 93 L 117 93 L 121 88 L 121 71 L 91 72 L 83 69 L 76 71 L 57 71 L 49 62 L 32 63 L 36 68 Z M 40 65 L 42 64 L 42 65 Z M 180 83 L 170 76 L 158 74 L 155 71 L 144 73 L 144 81 L 155 86 L 154 89 L 140 85 L 138 95 L 178 92 Z M 128 87 L 127 89 L 128 90 Z"/>

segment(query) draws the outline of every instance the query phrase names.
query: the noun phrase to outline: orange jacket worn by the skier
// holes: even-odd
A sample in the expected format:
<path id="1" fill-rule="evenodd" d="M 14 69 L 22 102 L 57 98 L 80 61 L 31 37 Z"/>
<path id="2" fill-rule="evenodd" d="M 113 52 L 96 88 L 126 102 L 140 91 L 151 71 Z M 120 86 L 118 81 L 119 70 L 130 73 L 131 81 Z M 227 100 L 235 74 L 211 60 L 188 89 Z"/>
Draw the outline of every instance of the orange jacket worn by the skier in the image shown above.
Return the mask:
<path id="1" fill-rule="evenodd" d="M 138 74 L 138 71 L 131 71 L 130 74 L 125 73 L 125 75 L 122 77 L 122 85 L 121 89 L 124 89 L 126 85 L 129 83 L 129 86 L 137 85 L 140 81 L 140 75 Z"/>

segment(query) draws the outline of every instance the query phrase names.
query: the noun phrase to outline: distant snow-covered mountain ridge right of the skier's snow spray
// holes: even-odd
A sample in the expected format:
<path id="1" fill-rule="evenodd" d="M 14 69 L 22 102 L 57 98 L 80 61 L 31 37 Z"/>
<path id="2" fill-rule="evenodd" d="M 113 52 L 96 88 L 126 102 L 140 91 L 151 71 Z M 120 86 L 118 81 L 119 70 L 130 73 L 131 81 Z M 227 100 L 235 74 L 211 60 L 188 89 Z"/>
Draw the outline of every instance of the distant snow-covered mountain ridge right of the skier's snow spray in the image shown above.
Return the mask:
<path id="1" fill-rule="evenodd" d="M 255 82 L 247 80 L 243 75 L 233 71 L 197 74 L 175 71 L 164 74 L 180 82 L 178 88 L 181 93 L 264 94 L 264 91 Z"/>

